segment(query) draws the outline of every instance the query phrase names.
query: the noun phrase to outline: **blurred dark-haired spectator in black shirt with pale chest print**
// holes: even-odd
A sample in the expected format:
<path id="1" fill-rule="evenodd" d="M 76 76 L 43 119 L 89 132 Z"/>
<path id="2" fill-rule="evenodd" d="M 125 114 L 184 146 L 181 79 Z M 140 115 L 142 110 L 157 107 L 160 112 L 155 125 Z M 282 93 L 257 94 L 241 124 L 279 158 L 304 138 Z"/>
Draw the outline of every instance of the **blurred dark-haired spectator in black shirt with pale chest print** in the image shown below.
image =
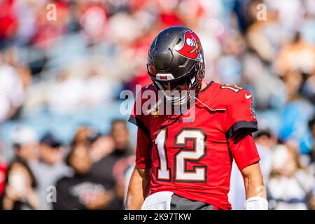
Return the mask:
<path id="1" fill-rule="evenodd" d="M 75 174 L 57 181 L 54 209 L 107 209 L 113 200 L 113 191 L 90 174 L 92 160 L 87 145 L 74 145 L 66 162 Z"/>

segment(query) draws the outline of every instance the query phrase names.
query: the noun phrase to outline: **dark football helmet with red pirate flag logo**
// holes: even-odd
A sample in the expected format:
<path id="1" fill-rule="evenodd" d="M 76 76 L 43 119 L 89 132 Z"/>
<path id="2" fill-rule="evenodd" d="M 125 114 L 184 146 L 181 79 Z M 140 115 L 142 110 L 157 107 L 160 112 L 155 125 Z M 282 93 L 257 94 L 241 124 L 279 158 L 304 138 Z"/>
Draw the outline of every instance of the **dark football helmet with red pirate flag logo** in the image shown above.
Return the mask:
<path id="1" fill-rule="evenodd" d="M 188 102 L 192 90 L 196 94 L 200 91 L 204 68 L 200 38 L 187 27 L 164 29 L 148 50 L 148 75 L 160 90 L 161 97 L 172 105 L 184 104 Z M 183 83 L 188 84 L 188 90 L 174 96 L 172 90 Z"/>

